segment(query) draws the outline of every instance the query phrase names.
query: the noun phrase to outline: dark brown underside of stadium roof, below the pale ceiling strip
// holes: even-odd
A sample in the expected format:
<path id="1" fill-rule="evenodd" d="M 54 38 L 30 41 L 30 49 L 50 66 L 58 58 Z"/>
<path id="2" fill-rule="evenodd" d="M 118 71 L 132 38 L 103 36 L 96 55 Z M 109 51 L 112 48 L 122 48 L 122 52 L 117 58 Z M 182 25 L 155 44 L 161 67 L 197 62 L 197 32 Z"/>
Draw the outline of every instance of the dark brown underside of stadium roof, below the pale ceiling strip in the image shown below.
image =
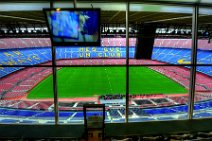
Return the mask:
<path id="1" fill-rule="evenodd" d="M 1 23 L 45 23 L 42 11 L 13 11 L 0 12 Z M 105 24 L 125 24 L 125 11 L 101 11 L 101 23 Z M 180 13 L 160 13 L 160 12 L 130 12 L 130 23 L 170 23 L 170 24 L 191 24 L 191 14 Z M 201 24 L 212 23 L 212 15 L 201 15 Z"/>

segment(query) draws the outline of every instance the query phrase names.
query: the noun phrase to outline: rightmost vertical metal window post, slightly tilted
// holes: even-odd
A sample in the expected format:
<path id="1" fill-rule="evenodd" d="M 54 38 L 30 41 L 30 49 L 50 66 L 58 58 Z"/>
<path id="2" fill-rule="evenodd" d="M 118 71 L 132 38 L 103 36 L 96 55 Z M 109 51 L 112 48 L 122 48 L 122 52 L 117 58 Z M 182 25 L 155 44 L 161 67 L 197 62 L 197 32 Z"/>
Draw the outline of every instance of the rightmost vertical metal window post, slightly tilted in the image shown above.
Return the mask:
<path id="1" fill-rule="evenodd" d="M 195 81 L 196 81 L 196 63 L 197 63 L 197 43 L 198 43 L 198 12 L 199 6 L 193 7 L 192 17 L 192 49 L 191 49 L 191 70 L 190 70 L 190 84 L 189 84 L 189 107 L 188 118 L 193 118 L 194 110 L 194 96 L 195 96 Z"/>

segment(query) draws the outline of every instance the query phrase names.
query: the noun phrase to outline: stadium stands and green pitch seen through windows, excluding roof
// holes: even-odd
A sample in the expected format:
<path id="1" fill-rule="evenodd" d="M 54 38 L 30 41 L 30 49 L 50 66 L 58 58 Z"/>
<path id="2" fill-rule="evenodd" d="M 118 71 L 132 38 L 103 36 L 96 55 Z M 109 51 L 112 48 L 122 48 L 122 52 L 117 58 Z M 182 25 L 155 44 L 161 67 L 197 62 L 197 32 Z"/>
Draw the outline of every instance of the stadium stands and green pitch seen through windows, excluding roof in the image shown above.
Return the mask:
<path id="1" fill-rule="evenodd" d="M 49 39 L 13 38 L 1 41 L 1 48 L 10 46 L 9 49 L 1 49 L 2 64 L 51 65 Z M 85 103 L 108 105 L 106 122 L 125 120 L 126 47 L 123 42 L 124 38 L 103 38 L 103 47 L 56 48 L 56 63 L 65 66 L 57 67 L 61 122 L 83 122 L 82 106 Z M 189 39 L 156 39 L 152 59 L 136 60 L 135 39 L 130 39 L 130 120 L 187 117 L 189 67 L 154 65 L 187 65 L 187 60 L 191 58 L 188 49 L 190 42 Z M 212 44 L 208 44 L 207 40 L 201 42 L 205 46 L 198 52 L 197 61 L 211 63 Z M 17 49 L 17 46 L 21 48 Z M 107 57 L 98 57 L 100 54 Z M 211 66 L 197 68 L 195 117 L 211 114 L 211 75 Z M 54 120 L 52 80 L 50 67 L 2 67 L 2 122 L 16 123 L 28 119 L 29 122 L 45 123 Z"/>

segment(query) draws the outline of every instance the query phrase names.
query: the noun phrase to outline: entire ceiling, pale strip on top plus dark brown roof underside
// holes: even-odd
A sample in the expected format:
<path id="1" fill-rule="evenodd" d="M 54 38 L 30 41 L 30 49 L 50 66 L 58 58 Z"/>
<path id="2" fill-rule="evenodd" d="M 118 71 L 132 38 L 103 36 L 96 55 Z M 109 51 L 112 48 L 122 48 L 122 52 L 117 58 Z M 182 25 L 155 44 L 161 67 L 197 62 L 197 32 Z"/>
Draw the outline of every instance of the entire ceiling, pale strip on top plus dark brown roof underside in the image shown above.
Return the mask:
<path id="1" fill-rule="evenodd" d="M 49 2 L 37 0 L 25 0 L 16 2 L 7 0 L 0 2 L 0 24 L 19 23 L 32 24 L 44 23 L 45 18 L 43 8 L 49 7 Z M 91 7 L 91 2 L 78 0 L 77 7 Z M 101 8 L 101 23 L 103 24 L 125 24 L 126 4 L 123 2 L 95 2 L 95 8 Z M 142 1 L 142 0 L 140 0 Z M 143 0 L 142 2 L 144 2 Z M 156 1 L 167 2 L 168 0 L 155 0 L 154 4 L 130 3 L 129 22 L 130 23 L 162 23 L 162 24 L 189 24 L 192 22 L 192 6 L 190 5 L 157 5 Z M 199 2 L 212 4 L 212 0 L 172 0 L 172 2 Z M 55 2 L 55 7 L 73 7 L 73 3 Z M 200 24 L 212 25 L 212 8 L 200 7 Z"/>

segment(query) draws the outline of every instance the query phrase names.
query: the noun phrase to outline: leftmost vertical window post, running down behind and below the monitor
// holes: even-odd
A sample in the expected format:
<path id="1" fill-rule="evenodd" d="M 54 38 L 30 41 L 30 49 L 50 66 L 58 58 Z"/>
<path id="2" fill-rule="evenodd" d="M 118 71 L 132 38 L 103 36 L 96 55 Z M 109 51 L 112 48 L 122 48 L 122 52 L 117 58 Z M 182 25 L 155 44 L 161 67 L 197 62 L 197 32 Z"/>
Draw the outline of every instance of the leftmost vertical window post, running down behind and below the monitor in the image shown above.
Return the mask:
<path id="1" fill-rule="evenodd" d="M 54 8 L 54 2 L 50 2 L 50 8 Z M 54 113 L 55 113 L 55 124 L 59 121 L 58 112 L 58 91 L 57 91 L 57 67 L 56 67 L 56 47 L 52 46 L 52 73 L 53 73 L 53 91 L 54 91 Z"/>

